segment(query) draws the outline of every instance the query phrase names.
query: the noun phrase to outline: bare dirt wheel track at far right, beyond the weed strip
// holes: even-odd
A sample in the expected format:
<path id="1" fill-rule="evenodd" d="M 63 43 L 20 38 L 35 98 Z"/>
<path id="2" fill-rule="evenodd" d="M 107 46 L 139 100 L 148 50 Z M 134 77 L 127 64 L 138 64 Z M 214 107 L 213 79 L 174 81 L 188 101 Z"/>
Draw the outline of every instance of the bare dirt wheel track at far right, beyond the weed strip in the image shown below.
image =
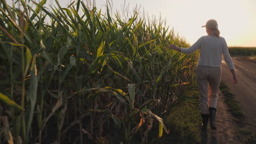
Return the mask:
<path id="1" fill-rule="evenodd" d="M 222 65 L 222 79 L 235 94 L 243 113 L 246 115 L 248 128 L 256 134 L 256 63 L 233 57 L 238 83 L 232 83 L 232 75 L 226 64 Z"/>

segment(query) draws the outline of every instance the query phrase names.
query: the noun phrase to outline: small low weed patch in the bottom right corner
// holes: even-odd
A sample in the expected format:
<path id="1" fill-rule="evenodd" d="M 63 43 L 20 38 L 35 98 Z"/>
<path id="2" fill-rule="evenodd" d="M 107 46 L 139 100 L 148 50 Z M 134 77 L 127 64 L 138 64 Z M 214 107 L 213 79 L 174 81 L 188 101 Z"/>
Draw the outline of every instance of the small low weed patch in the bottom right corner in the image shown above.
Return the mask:
<path id="1" fill-rule="evenodd" d="M 236 135 L 245 143 L 256 143 L 254 133 L 249 129 L 240 129 L 236 132 Z"/>

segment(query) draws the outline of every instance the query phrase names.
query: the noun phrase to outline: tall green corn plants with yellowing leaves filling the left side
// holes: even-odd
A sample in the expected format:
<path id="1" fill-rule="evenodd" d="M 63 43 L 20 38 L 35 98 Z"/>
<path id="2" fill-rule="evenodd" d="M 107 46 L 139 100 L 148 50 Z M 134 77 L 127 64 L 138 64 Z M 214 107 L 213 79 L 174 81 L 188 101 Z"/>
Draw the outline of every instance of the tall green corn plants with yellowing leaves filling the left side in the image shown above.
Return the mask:
<path id="1" fill-rule="evenodd" d="M 0 143 L 149 143 L 170 132 L 163 113 L 197 54 L 167 47 L 184 39 L 138 9 L 124 19 L 108 5 L 29 2 L 0 3 Z"/>

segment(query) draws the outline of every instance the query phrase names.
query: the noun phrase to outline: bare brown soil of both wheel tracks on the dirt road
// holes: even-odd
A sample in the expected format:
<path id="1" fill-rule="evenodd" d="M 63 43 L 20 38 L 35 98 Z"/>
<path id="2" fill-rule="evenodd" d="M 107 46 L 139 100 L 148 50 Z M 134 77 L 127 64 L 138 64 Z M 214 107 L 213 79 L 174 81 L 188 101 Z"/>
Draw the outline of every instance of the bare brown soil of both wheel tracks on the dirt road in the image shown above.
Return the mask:
<path id="1" fill-rule="evenodd" d="M 232 74 L 228 66 L 222 64 L 222 81 L 235 94 L 235 99 L 241 104 L 242 112 L 246 116 L 245 128 L 252 130 L 256 134 L 256 63 L 245 61 L 240 57 L 232 57 L 238 83 L 232 83 Z M 243 143 L 238 139 L 236 132 L 238 128 L 235 117 L 228 111 L 228 107 L 224 103 L 224 96 L 219 92 L 218 108 L 216 113 L 217 130 L 210 129 L 208 122 L 208 130 L 202 131 L 202 143 Z"/>

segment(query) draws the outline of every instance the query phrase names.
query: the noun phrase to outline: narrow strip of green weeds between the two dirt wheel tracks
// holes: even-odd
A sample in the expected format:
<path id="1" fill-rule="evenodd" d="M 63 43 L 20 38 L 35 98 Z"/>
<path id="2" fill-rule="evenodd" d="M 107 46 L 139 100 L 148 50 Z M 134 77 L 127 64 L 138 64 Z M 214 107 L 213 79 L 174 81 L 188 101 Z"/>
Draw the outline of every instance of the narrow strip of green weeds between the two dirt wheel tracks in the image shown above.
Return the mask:
<path id="1" fill-rule="evenodd" d="M 233 116 L 236 117 L 236 121 L 244 121 L 245 115 L 241 111 L 241 105 L 237 100 L 235 100 L 234 93 L 231 93 L 230 89 L 223 82 L 220 83 L 219 89 L 220 91 L 222 91 L 222 94 L 224 95 L 224 101 L 226 105 L 228 105 L 229 111 Z"/>

